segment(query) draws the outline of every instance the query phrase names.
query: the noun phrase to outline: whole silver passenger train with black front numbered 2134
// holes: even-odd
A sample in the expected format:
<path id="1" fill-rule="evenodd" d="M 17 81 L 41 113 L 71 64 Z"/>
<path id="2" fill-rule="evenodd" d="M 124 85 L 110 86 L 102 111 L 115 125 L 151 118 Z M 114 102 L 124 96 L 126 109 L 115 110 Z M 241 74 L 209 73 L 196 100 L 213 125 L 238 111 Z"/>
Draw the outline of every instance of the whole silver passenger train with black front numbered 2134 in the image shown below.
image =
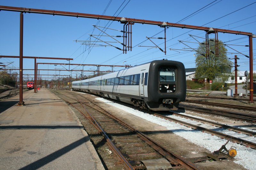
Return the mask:
<path id="1" fill-rule="evenodd" d="M 186 98 L 183 63 L 155 60 L 102 76 L 72 82 L 88 92 L 154 111 L 177 110 Z"/>

